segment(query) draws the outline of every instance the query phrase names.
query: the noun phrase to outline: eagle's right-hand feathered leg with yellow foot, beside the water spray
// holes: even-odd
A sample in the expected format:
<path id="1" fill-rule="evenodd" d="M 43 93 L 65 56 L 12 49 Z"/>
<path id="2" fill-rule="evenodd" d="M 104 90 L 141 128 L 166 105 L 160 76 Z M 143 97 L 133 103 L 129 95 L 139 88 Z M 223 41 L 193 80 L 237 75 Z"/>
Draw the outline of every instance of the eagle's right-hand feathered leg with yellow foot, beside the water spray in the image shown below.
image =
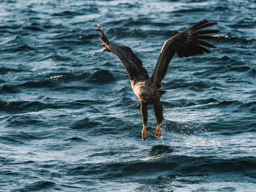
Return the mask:
<path id="1" fill-rule="evenodd" d="M 163 116 L 163 105 L 160 100 L 154 103 L 154 110 L 156 115 L 156 123 L 157 128 L 154 131 L 154 135 L 156 135 L 157 139 L 162 136 L 162 132 L 160 129 L 160 125 L 164 123 L 164 116 Z"/>

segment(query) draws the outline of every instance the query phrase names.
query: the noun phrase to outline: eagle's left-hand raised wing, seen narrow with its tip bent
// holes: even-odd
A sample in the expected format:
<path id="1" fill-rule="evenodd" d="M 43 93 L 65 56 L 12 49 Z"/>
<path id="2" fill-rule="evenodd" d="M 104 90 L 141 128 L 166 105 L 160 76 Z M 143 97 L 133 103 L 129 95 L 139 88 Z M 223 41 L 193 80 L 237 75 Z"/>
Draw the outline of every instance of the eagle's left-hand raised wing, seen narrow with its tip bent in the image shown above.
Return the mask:
<path id="1" fill-rule="evenodd" d="M 138 80 L 145 81 L 149 79 L 147 70 L 142 66 L 142 61 L 137 57 L 135 53 L 133 53 L 130 47 L 111 43 L 100 25 L 95 24 L 95 26 L 99 28 L 97 31 L 100 31 L 100 41 L 103 42 L 101 47 L 106 46 L 103 51 L 112 52 L 120 59 L 131 81 L 136 82 Z"/>

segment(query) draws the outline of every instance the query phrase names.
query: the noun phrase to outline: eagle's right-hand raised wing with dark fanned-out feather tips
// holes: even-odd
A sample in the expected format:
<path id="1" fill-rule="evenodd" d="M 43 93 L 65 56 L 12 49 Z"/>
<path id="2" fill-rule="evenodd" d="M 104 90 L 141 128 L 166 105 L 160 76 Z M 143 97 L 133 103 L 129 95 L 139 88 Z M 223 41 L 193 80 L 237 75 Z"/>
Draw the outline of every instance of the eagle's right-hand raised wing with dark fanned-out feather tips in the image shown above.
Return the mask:
<path id="1" fill-rule="evenodd" d="M 219 39 L 215 36 L 205 36 L 205 34 L 218 33 L 218 30 L 203 30 L 198 31 L 203 28 L 207 28 L 217 23 L 209 23 L 209 21 L 203 21 L 196 24 L 195 26 L 179 33 L 178 35 L 167 40 L 161 50 L 159 58 L 156 63 L 156 68 L 154 70 L 151 78 L 154 78 L 156 86 L 158 89 L 162 87 L 162 81 L 167 73 L 169 63 L 175 53 L 178 54 L 180 58 L 189 57 L 193 55 L 203 55 L 205 53 L 211 53 L 208 49 L 202 46 L 210 47 L 215 49 L 213 45 L 206 43 L 201 40 L 215 40 Z M 202 45 L 202 46 L 201 46 Z"/>

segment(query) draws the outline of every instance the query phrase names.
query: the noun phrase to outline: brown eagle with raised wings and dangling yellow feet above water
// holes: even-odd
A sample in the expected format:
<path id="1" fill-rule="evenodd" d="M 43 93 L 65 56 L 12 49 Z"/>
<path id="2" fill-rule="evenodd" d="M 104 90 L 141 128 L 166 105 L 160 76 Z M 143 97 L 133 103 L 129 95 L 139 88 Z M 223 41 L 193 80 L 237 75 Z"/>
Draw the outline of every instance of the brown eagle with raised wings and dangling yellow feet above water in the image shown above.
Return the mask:
<path id="1" fill-rule="evenodd" d="M 175 53 L 177 53 L 180 58 L 211 53 L 204 47 L 213 49 L 216 49 L 216 47 L 202 40 L 219 39 L 216 36 L 209 36 L 206 34 L 218 33 L 220 31 L 201 29 L 216 24 L 217 23 L 209 23 L 208 20 L 202 21 L 167 40 L 162 47 L 156 62 L 155 70 L 151 77 L 148 75 L 147 70 L 142 66 L 142 61 L 137 57 L 131 48 L 124 45 L 111 43 L 100 25 L 95 24 L 95 26 L 98 27 L 97 31 L 100 31 L 100 41 L 103 43 L 101 44 L 101 47 L 105 47 L 103 52 L 114 53 L 120 59 L 129 75 L 132 90 L 140 100 L 140 112 L 143 124 L 143 140 L 146 140 L 148 137 L 146 126 L 148 124 L 149 104 L 154 105 L 156 116 L 157 128 L 154 131 L 154 135 L 157 137 L 157 139 L 162 136 L 160 125 L 164 123 L 165 119 L 163 116 L 163 105 L 160 98 L 166 92 L 177 90 L 161 90 L 162 81 L 167 73 L 172 57 L 175 55 Z"/>

